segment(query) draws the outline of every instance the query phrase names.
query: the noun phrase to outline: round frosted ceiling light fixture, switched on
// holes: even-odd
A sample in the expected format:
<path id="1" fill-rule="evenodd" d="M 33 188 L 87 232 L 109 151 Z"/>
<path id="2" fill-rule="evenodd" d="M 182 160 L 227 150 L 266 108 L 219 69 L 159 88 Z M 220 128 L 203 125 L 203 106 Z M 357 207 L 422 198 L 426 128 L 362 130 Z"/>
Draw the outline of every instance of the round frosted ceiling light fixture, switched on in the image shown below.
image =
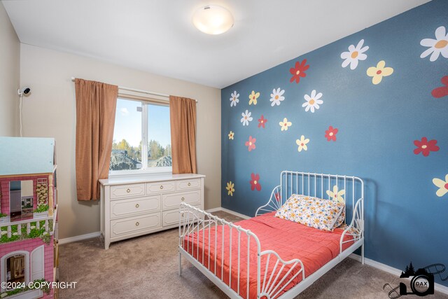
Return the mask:
<path id="1" fill-rule="evenodd" d="M 195 11 L 193 25 L 207 34 L 222 34 L 232 28 L 233 16 L 221 6 L 204 6 Z"/>

